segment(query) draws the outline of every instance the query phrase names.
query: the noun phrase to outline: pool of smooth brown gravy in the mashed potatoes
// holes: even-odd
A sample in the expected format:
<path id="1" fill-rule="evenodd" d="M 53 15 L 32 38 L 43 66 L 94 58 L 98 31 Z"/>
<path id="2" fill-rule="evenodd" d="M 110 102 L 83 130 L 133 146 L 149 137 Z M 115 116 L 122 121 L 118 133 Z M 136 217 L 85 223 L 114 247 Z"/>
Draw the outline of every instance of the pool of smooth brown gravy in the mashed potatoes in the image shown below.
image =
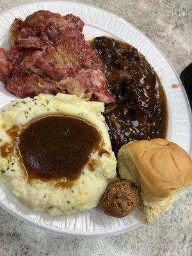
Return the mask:
<path id="1" fill-rule="evenodd" d="M 91 124 L 69 116 L 46 116 L 19 134 L 19 152 L 28 179 L 75 180 L 102 137 Z"/>

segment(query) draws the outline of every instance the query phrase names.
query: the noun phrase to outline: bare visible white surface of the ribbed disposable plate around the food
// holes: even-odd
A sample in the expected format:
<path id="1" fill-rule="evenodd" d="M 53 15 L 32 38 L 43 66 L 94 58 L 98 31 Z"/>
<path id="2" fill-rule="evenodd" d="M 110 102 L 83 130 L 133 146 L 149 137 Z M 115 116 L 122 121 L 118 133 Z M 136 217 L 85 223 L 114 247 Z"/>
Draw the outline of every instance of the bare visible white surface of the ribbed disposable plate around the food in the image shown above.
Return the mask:
<path id="1" fill-rule="evenodd" d="M 37 10 L 49 10 L 61 15 L 73 13 L 85 23 L 86 40 L 100 35 L 111 36 L 133 45 L 145 55 L 159 75 L 166 93 L 169 115 L 167 138 L 191 155 L 192 119 L 186 93 L 170 63 L 147 36 L 120 17 L 88 4 L 71 1 L 38 1 L 20 4 L 0 13 L 0 47 L 9 49 L 8 29 L 15 17 L 25 19 Z M 172 84 L 179 86 L 173 88 Z M 7 92 L 0 82 L 0 109 L 13 99 L 15 97 Z M 66 236 L 114 236 L 140 227 L 143 219 L 137 210 L 125 218 L 118 219 L 107 216 L 99 207 L 66 217 L 52 217 L 25 207 L 3 182 L 0 182 L 0 206 L 20 220 Z"/>

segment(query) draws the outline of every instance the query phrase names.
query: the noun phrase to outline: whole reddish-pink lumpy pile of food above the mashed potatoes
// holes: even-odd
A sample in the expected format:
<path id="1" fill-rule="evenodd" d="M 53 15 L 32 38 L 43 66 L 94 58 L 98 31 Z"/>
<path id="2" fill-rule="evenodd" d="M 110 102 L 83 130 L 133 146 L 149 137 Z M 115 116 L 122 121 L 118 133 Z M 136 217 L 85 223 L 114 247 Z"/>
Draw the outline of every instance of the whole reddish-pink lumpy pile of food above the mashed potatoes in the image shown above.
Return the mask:
<path id="1" fill-rule="evenodd" d="M 0 49 L 0 79 L 18 97 L 39 93 L 76 94 L 106 104 L 115 97 L 106 88 L 106 66 L 84 40 L 83 21 L 38 11 L 10 28 L 9 52 Z"/>

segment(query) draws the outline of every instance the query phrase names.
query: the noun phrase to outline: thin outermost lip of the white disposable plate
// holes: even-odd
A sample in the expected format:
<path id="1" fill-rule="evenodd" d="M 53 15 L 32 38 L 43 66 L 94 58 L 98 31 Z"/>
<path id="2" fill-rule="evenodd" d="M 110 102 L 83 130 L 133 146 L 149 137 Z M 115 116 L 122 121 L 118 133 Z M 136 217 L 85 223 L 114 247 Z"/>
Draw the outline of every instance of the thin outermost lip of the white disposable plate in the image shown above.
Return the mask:
<path id="1" fill-rule="evenodd" d="M 105 10 L 104 8 L 100 8 L 98 6 L 95 6 L 93 4 L 89 4 L 89 3 L 83 3 L 81 1 L 75 1 L 75 0 L 70 0 L 70 1 L 67 1 L 67 0 L 43 0 L 43 1 L 30 1 L 28 3 L 21 3 L 21 4 L 15 4 L 13 5 L 12 7 L 10 8 L 6 8 L 4 10 L 2 10 L 0 12 L 0 17 L 2 15 L 4 15 L 4 13 L 7 13 L 7 12 L 11 12 L 13 10 L 16 10 L 16 9 L 19 9 L 19 8 L 22 8 L 22 6 L 28 6 L 28 5 L 36 5 L 36 4 L 46 4 L 46 3 L 73 3 L 73 4 L 80 4 L 81 6 L 90 6 L 92 8 L 95 8 L 97 10 L 100 10 L 102 12 L 105 12 L 105 13 L 108 13 L 109 15 L 115 17 L 116 19 L 118 20 L 122 20 L 122 22 L 124 22 L 125 25 L 128 25 L 130 26 L 131 28 L 134 28 L 140 35 L 142 35 L 145 40 L 147 40 L 148 42 L 150 42 L 151 45 L 153 45 L 155 47 L 155 49 L 159 52 L 159 54 L 161 54 L 161 56 L 164 58 L 164 60 L 166 61 L 166 63 L 168 64 L 168 66 L 171 68 L 174 76 L 177 78 L 177 80 L 179 81 L 179 84 L 181 85 L 180 88 L 182 90 L 182 93 L 184 95 L 184 99 L 185 99 L 185 102 L 186 102 L 186 108 L 188 109 L 188 114 L 189 114 L 189 122 L 192 124 L 192 112 L 191 112 L 191 108 L 190 108 L 190 105 L 189 105 L 189 99 L 188 99 L 188 96 L 186 94 L 186 91 L 184 90 L 184 86 L 182 85 L 182 82 L 180 81 L 180 77 L 178 76 L 177 72 L 175 71 L 175 69 L 173 68 L 173 65 L 170 63 L 170 61 L 168 60 L 168 58 L 166 58 L 166 56 L 164 55 L 164 53 L 161 51 L 161 49 L 159 49 L 159 47 L 157 47 L 156 44 L 154 44 L 154 42 L 152 42 L 152 40 L 150 38 L 148 38 L 147 35 L 145 35 L 145 33 L 143 33 L 142 31 L 140 31 L 140 29 L 136 28 L 134 25 L 132 25 L 130 22 L 128 22 L 127 20 L 123 19 L 122 17 L 119 17 L 118 15 L 112 13 L 112 12 L 109 12 L 108 10 Z M 190 138 L 192 136 L 192 128 L 190 129 Z M 192 156 L 192 143 L 190 144 L 190 147 L 189 147 L 189 155 Z M 109 236 L 116 236 L 118 234 L 122 234 L 124 232 L 129 232 L 135 228 L 138 228 L 138 227 L 141 227 L 143 226 L 143 223 L 138 220 L 136 222 L 133 222 L 129 225 L 129 227 L 127 227 L 127 225 L 125 225 L 125 227 L 118 227 L 118 228 L 111 228 L 111 230 L 102 230 L 102 231 L 89 231 L 89 232 L 77 232 L 77 230 L 74 232 L 74 231 L 70 231 L 70 230 L 64 230 L 64 229 L 60 229 L 60 228 L 55 228 L 55 227 L 52 227 L 52 226 L 48 226 L 48 225 L 45 225 L 44 223 L 41 223 L 40 221 L 36 221 L 35 219 L 30 219 L 28 218 L 28 216 L 25 216 L 24 214 L 20 215 L 20 212 L 19 211 L 13 211 L 12 208 L 9 207 L 9 205 L 7 204 L 2 204 L 3 201 L 0 200 L 0 206 L 8 211 L 10 214 L 12 214 L 13 216 L 16 216 L 17 218 L 19 218 L 19 220 L 22 220 L 26 223 L 29 223 L 31 225 L 35 225 L 35 227 L 40 227 L 42 228 L 43 230 L 48 230 L 49 232 L 53 232 L 53 233 L 56 233 L 56 234 L 60 234 L 62 236 L 71 236 L 71 237 L 109 237 Z"/>

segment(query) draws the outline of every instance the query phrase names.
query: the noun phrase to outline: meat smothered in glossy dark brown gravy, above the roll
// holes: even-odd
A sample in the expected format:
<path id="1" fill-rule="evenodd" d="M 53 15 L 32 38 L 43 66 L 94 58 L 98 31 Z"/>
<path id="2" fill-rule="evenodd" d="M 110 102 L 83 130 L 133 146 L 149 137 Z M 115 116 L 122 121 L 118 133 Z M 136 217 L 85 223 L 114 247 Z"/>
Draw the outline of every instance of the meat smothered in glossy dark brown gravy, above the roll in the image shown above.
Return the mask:
<path id="1" fill-rule="evenodd" d="M 115 154 L 129 141 L 166 138 L 166 97 L 145 57 L 131 45 L 104 36 L 94 38 L 92 45 L 107 65 L 108 88 L 116 96 L 104 112 Z"/>

